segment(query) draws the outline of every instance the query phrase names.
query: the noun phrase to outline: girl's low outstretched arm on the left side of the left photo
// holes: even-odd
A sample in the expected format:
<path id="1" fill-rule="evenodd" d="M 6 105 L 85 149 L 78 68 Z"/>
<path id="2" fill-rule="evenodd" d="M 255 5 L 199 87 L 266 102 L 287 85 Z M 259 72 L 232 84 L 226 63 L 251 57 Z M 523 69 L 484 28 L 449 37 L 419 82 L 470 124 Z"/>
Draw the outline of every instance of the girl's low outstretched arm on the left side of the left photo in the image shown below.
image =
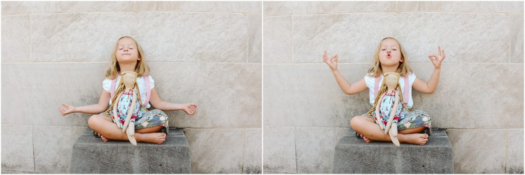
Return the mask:
<path id="1" fill-rule="evenodd" d="M 101 112 L 104 112 L 108 109 L 109 106 L 109 98 L 110 98 L 109 92 L 102 89 L 102 94 L 100 94 L 100 99 L 98 104 L 91 104 L 89 106 L 81 106 L 81 107 L 75 107 L 71 106 L 69 104 L 62 104 L 61 107 L 58 107 L 58 111 L 62 116 L 74 113 L 74 112 L 81 112 L 81 113 L 88 113 L 88 114 L 99 114 Z"/>

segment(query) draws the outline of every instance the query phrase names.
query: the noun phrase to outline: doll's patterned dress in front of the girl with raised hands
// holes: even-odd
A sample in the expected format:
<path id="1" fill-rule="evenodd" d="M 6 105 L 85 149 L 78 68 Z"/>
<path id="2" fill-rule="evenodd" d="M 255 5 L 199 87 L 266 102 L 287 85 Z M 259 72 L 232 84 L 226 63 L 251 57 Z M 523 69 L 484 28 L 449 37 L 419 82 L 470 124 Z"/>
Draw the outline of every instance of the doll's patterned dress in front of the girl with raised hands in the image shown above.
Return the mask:
<path id="1" fill-rule="evenodd" d="M 401 102 L 401 99 L 398 101 L 397 104 L 397 110 L 393 111 L 391 110 L 394 108 L 395 103 L 395 90 L 392 91 L 386 91 L 385 96 L 381 101 L 379 102 L 379 118 L 375 116 L 375 111 L 372 112 L 373 118 L 375 120 L 375 123 L 382 122 L 383 123 L 383 130 L 386 127 L 386 123 L 388 122 L 388 119 L 390 118 L 390 113 L 395 112 L 394 120 L 393 121 L 399 121 L 403 120 L 405 118 L 405 112 L 403 112 L 403 103 Z"/>

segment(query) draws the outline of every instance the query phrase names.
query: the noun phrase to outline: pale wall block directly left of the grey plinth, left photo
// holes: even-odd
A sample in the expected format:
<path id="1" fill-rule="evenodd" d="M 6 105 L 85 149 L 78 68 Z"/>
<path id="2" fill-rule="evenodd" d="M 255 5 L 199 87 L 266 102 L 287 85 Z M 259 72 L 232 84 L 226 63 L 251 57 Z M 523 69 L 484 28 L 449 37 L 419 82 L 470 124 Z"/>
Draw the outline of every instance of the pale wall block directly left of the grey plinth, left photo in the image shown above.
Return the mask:
<path id="1" fill-rule="evenodd" d="M 68 173 L 72 147 L 86 131 L 82 126 L 33 126 L 35 172 Z"/>

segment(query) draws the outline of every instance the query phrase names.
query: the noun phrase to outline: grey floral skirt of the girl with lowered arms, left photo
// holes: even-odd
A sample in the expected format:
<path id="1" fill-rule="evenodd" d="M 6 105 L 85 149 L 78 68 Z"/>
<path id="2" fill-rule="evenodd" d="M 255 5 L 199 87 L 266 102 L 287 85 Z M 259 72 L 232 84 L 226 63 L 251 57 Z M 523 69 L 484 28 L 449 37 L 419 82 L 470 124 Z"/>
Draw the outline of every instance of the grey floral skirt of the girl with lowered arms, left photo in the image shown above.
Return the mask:
<path id="1" fill-rule="evenodd" d="M 161 131 L 159 132 L 163 132 L 163 133 L 166 133 L 169 131 L 168 129 L 168 118 L 167 118 L 167 115 L 166 113 L 162 112 L 161 110 L 158 110 L 158 109 L 154 109 L 154 110 L 151 110 L 151 111 L 146 111 L 144 109 L 141 108 L 141 111 L 142 113 L 142 116 L 140 116 L 139 118 L 137 118 L 135 120 L 135 130 L 138 130 L 138 129 L 143 129 L 143 128 L 146 128 L 146 127 L 153 127 L 153 126 L 164 126 Z M 103 112 L 100 113 L 100 115 L 104 115 L 104 116 L 107 116 L 111 119 L 113 119 L 113 117 L 111 115 L 113 115 L 112 113 L 109 113 L 109 115 L 106 115 L 104 114 Z"/>

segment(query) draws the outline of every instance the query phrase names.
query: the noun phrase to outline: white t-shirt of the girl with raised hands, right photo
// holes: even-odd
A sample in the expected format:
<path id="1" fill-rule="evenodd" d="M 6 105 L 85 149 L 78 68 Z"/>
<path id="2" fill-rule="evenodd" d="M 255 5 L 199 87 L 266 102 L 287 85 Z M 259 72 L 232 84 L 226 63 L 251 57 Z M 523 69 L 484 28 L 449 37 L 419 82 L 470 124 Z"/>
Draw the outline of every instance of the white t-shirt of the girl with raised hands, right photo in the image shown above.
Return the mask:
<path id="1" fill-rule="evenodd" d="M 366 87 L 369 88 L 369 96 L 370 96 L 370 105 L 374 106 L 374 100 L 375 100 L 375 77 L 369 76 L 370 74 L 366 74 L 364 76 L 364 81 L 366 82 Z M 416 74 L 408 74 L 408 104 L 406 104 L 406 108 L 412 108 L 412 105 L 414 104 L 414 101 L 412 101 L 412 85 L 414 84 L 414 81 L 416 80 Z M 381 75 L 381 79 L 379 80 L 379 85 L 381 86 L 381 83 L 383 82 L 383 75 Z M 403 96 L 405 95 L 405 77 L 399 78 L 399 84 L 401 85 L 401 92 L 403 93 Z M 404 98 L 404 97 L 402 97 Z"/>

